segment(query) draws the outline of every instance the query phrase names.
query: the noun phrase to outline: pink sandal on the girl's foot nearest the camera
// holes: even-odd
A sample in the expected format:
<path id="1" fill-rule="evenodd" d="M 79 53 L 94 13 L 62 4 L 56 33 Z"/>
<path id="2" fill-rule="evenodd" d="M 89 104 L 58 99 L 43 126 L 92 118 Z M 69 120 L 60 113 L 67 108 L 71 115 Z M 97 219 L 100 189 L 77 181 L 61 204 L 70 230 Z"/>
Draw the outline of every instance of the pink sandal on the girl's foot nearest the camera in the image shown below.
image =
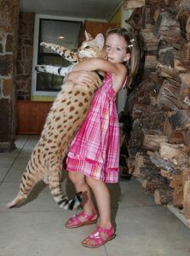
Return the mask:
<path id="1" fill-rule="evenodd" d="M 104 239 L 101 237 L 101 233 L 104 233 L 107 235 L 107 238 Z M 106 230 L 98 226 L 95 231 L 93 231 L 89 236 L 87 236 L 83 241 L 82 245 L 84 247 L 101 247 L 107 241 L 112 240 L 116 236 L 115 230 L 113 226 L 111 226 L 110 229 Z M 93 241 L 93 244 L 91 244 L 91 241 Z"/>

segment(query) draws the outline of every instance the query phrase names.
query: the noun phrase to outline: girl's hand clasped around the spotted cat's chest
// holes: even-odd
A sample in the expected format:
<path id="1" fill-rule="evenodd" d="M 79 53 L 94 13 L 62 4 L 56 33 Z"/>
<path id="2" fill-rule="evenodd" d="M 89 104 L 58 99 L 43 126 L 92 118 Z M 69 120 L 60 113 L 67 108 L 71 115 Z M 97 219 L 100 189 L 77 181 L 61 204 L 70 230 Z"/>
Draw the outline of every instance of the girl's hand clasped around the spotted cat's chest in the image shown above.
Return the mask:
<path id="1" fill-rule="evenodd" d="M 63 80 L 64 82 L 71 81 L 73 84 L 90 85 L 93 81 L 93 76 L 90 71 L 72 71 L 68 73 Z"/>

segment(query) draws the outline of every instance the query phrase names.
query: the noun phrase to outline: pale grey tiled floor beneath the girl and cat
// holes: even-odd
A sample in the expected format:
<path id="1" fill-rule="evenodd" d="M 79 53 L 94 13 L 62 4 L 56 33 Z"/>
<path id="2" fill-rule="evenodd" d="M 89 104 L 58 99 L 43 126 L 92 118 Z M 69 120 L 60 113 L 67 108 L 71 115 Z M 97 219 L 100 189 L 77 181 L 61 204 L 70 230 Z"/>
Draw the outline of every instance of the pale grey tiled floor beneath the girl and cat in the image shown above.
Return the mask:
<path id="1" fill-rule="evenodd" d="M 20 177 L 38 136 L 18 136 L 16 149 L 0 154 L 0 256 L 189 256 L 190 230 L 166 207 L 157 206 L 153 195 L 135 179 L 109 185 L 112 219 L 117 236 L 103 247 L 81 245 L 95 225 L 66 230 L 73 213 L 60 209 L 43 183 L 37 184 L 26 203 L 7 209 L 20 186 Z M 64 173 L 62 186 L 73 195 Z"/>

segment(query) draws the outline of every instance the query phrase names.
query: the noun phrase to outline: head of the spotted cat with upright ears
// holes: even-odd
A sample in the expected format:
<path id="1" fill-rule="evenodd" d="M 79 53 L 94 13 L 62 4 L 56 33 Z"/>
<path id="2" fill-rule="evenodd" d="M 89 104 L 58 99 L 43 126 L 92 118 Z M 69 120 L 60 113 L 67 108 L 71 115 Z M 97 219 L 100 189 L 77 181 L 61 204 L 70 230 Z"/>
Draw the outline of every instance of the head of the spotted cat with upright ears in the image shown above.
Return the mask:
<path id="1" fill-rule="evenodd" d="M 85 32 L 86 40 L 78 49 L 79 61 L 86 58 L 107 58 L 106 51 L 104 49 L 104 36 L 99 33 L 95 38 L 92 38 L 88 32 Z"/>

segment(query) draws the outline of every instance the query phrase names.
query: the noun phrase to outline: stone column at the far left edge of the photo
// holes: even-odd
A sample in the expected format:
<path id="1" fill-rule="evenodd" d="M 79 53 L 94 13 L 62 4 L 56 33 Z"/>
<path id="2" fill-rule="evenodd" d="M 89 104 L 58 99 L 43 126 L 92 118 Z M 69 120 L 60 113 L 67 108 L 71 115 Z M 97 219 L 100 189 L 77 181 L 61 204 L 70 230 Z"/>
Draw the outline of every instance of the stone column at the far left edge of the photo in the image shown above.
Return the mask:
<path id="1" fill-rule="evenodd" d="M 14 66 L 19 0 L 0 0 L 0 152 L 10 151 L 15 137 Z"/>

